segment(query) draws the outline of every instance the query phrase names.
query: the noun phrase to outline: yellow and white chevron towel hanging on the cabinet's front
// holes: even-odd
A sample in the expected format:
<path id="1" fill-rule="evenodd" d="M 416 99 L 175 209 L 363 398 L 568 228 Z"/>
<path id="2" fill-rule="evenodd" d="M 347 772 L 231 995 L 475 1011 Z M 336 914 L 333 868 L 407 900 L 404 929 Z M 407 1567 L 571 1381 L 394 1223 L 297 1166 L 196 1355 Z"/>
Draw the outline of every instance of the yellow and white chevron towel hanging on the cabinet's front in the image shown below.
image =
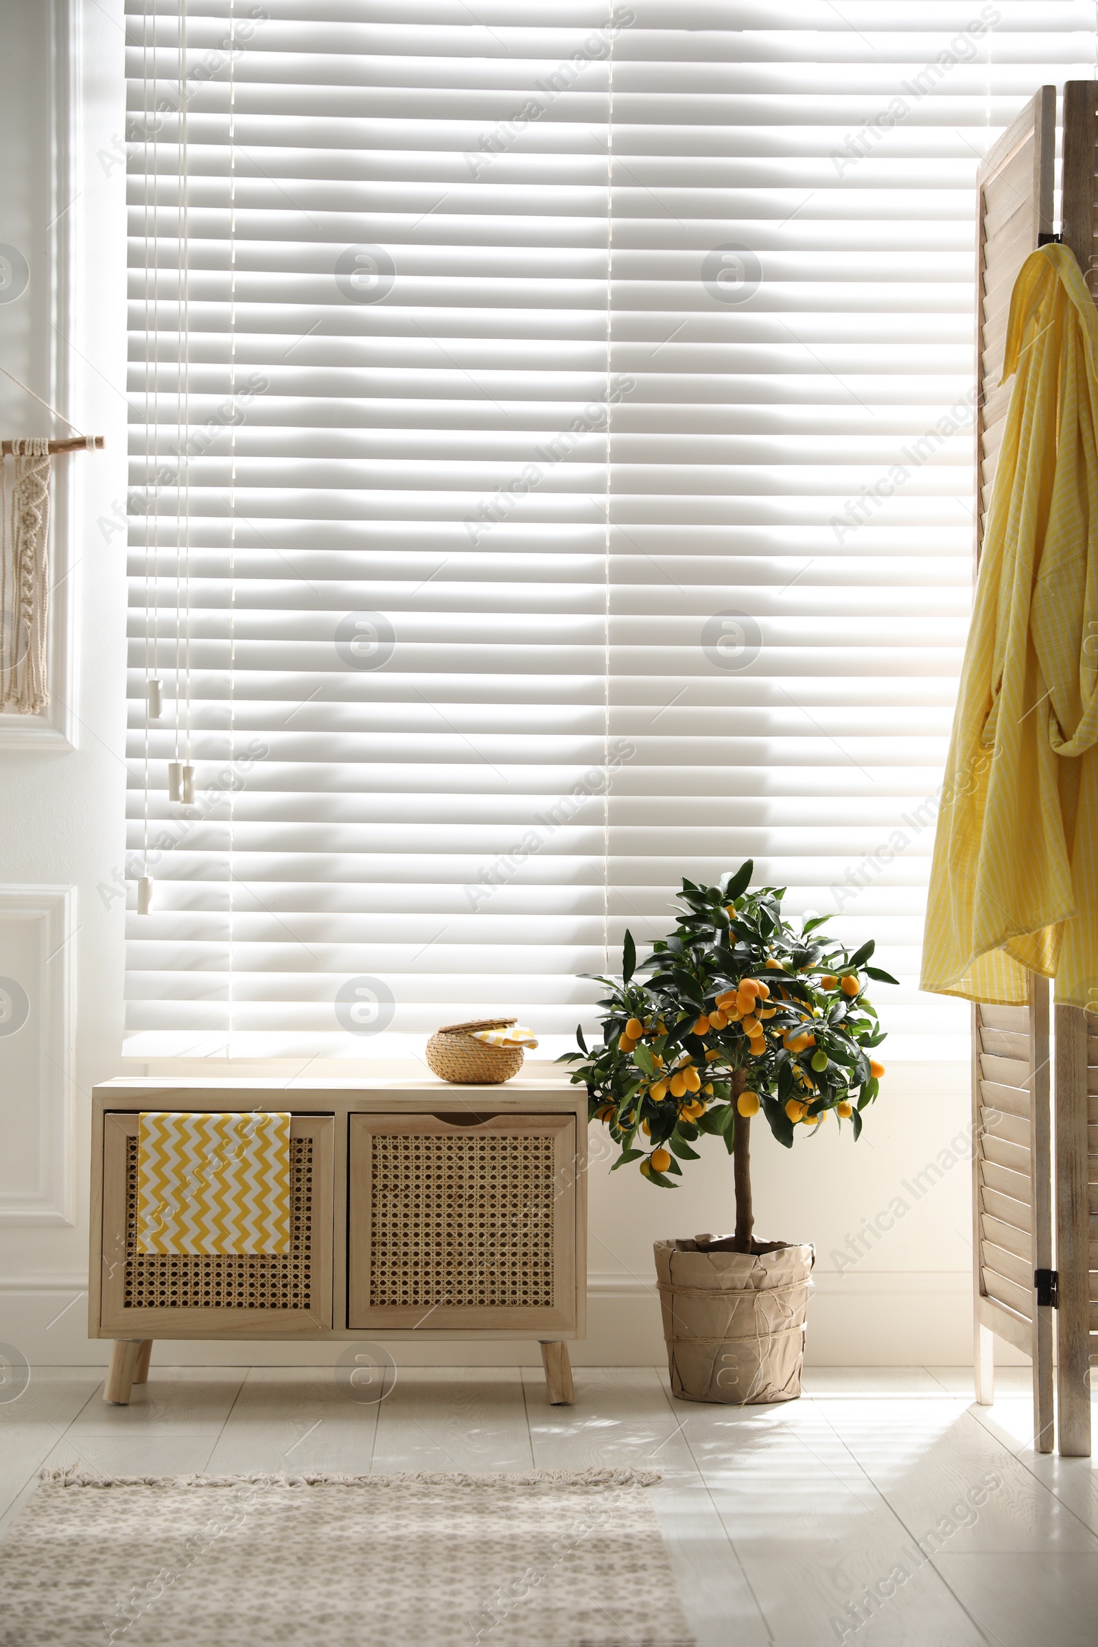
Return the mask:
<path id="1" fill-rule="evenodd" d="M 142 1113 L 137 1250 L 290 1252 L 290 1115 Z"/>

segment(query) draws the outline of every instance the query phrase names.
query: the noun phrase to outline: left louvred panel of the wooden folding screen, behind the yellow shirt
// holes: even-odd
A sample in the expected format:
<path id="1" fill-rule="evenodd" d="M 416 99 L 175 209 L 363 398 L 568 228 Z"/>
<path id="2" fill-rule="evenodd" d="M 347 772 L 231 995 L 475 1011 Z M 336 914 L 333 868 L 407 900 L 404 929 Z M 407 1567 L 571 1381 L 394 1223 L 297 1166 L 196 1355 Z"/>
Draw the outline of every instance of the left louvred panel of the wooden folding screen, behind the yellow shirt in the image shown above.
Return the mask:
<path id="1" fill-rule="evenodd" d="M 1011 400 L 1011 292 L 1052 234 L 1054 153 L 1055 87 L 1042 86 L 978 173 L 976 563 Z M 1049 1133 L 1049 980 L 1031 973 L 1027 1006 L 973 1006 L 973 1283 L 976 1400 L 991 1402 L 998 1334 L 1032 1359 L 1039 1453 L 1054 1443 Z"/>

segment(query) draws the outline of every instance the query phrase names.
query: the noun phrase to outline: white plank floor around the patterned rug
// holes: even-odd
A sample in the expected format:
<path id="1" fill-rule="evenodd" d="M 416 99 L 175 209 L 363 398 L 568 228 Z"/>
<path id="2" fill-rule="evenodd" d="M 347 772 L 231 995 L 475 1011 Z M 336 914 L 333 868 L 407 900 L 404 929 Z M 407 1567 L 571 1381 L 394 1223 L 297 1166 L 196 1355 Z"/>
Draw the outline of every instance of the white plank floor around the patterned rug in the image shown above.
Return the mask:
<path id="1" fill-rule="evenodd" d="M 733 1408 L 672 1400 L 662 1369 L 579 1369 L 576 1405 L 551 1408 L 540 1372 L 405 1369 L 361 1405 L 329 1369 L 170 1369 L 155 1351 L 120 1408 L 94 1370 L 35 1369 L 0 1405 L 0 1571 L 43 1464 L 635 1464 L 663 1472 L 654 1502 L 700 1647 L 1095 1647 L 1098 1469 L 1034 1454 L 1027 1379 L 1001 1372 L 979 1408 L 965 1370 L 817 1370 L 800 1402 Z"/>

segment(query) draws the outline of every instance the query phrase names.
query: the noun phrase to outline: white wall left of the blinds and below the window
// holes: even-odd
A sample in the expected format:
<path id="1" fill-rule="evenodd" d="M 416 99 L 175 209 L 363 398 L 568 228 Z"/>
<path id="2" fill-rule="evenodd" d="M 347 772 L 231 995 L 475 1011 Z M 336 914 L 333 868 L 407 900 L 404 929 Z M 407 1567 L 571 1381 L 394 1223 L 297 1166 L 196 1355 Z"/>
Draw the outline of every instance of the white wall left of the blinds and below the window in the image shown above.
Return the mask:
<path id="1" fill-rule="evenodd" d="M 54 81 L 64 81 L 64 26 L 79 41 L 81 107 L 76 114 L 72 180 L 64 143 L 49 156 Z M 0 362 L 46 399 L 66 392 L 82 430 L 104 433 L 107 450 L 71 461 L 74 497 L 67 552 L 72 570 L 74 670 L 66 703 L 72 749 L 5 748 L 0 726 L 0 881 L 23 888 L 74 888 L 76 1019 L 71 1056 L 64 1026 L 46 1013 L 58 957 L 46 960 L 48 929 L 0 898 L 0 977 L 23 967 L 31 1013 L 18 1034 L 0 1036 L 0 1341 L 31 1362 L 102 1362 L 105 1347 L 86 1336 L 89 1094 L 95 1080 L 123 1071 L 122 911 L 104 907 L 97 884 L 122 858 L 123 838 L 123 542 L 97 520 L 125 497 L 125 214 L 119 140 L 123 130 L 122 0 L 0 0 L 0 242 L 23 249 L 31 278 L 15 301 L 0 303 Z M 61 104 L 64 99 L 61 99 Z M 64 130 L 64 107 L 59 110 Z M 54 201 L 54 196 L 58 199 Z M 71 303 L 51 217 L 74 237 Z M 53 275 L 61 275 L 53 290 Z M 56 313 L 54 313 L 56 310 Z M 69 313 L 66 313 L 69 310 Z M 61 336 L 51 374 L 51 339 Z M 66 349 L 64 339 L 71 349 Z M 51 376 L 56 384 L 51 382 Z M 54 399 L 54 404 L 58 400 Z M 0 425 L 10 433 L 46 433 L 46 413 L 0 387 Z M 64 519 L 61 520 L 64 527 Z M 66 545 L 58 545 L 64 558 Z M 12 901 L 8 901 L 12 903 Z M 21 926 L 13 926 L 15 919 Z M 18 944 L 23 949 L 18 949 Z M 28 950 L 30 944 L 30 950 Z M 5 949 L 7 945 L 7 949 Z M 35 949 L 36 945 L 36 949 Z M 15 959 L 13 959 L 15 957 Z M 23 959 L 20 959 L 23 957 Z M 54 991 L 56 993 L 56 991 Z M 808 1357 L 817 1364 L 963 1362 L 971 1354 L 971 1212 L 968 1163 L 968 1066 L 933 1061 L 937 1003 L 927 998 L 924 1066 L 894 1066 L 859 1145 L 833 1127 L 800 1140 L 792 1155 L 757 1130 L 756 1217 L 759 1232 L 813 1240 L 818 1296 L 812 1304 Z M 23 1038 L 23 1039 L 20 1039 Z M 58 1052 L 61 1057 L 58 1059 Z M 887 1057 L 887 1052 L 886 1052 Z M 7 1059 L 7 1062 L 5 1062 Z M 71 1082 L 71 1117 L 61 1084 Z M 143 1072 L 145 1066 L 138 1069 Z M 349 1074 L 341 1066 L 341 1074 Z M 44 1143 L 64 1156 L 63 1123 L 74 1163 L 66 1215 L 20 1211 L 30 1202 L 35 1151 Z M 49 1128 L 54 1128 L 51 1135 Z M 596 1153 L 599 1141 L 593 1136 Z M 927 1173 L 927 1164 L 933 1163 Z M 54 1159 L 56 1166 L 56 1159 Z M 920 1176 L 922 1174 L 922 1176 Z M 54 1173 L 56 1178 L 56 1173 Z M 13 1204 L 5 1204 L 5 1192 Z M 61 1197 L 63 1199 L 63 1197 Z M 848 1245 L 866 1224 L 863 1255 Z M 677 1192 L 657 1191 L 630 1169 L 612 1178 L 606 1156 L 591 1171 L 591 1336 L 578 1362 L 660 1359 L 658 1304 L 652 1290 L 652 1240 L 721 1230 L 731 1224 L 731 1163 L 711 1140 Z M 179 1362 L 331 1360 L 339 1346 L 305 1352 L 291 1346 L 183 1346 Z M 440 1346 L 395 1346 L 403 1360 L 453 1359 Z M 530 1349 L 530 1357 L 535 1354 Z M 1003 1347 L 1004 1359 L 1019 1359 Z M 466 1362 L 515 1360 L 507 1346 L 466 1346 Z"/>

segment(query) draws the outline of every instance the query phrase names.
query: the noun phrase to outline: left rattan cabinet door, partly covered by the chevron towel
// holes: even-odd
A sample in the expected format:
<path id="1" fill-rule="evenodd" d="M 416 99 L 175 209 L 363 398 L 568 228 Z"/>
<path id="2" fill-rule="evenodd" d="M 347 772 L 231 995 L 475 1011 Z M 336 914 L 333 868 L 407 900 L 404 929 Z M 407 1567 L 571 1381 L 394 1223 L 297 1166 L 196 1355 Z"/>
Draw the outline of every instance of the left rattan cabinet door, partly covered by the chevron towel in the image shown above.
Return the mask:
<path id="1" fill-rule="evenodd" d="M 290 1122 L 290 1252 L 242 1257 L 138 1253 L 138 1120 L 104 1117 L 100 1329 L 125 1337 L 286 1337 L 331 1327 L 334 1118 Z"/>

